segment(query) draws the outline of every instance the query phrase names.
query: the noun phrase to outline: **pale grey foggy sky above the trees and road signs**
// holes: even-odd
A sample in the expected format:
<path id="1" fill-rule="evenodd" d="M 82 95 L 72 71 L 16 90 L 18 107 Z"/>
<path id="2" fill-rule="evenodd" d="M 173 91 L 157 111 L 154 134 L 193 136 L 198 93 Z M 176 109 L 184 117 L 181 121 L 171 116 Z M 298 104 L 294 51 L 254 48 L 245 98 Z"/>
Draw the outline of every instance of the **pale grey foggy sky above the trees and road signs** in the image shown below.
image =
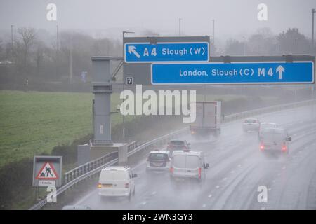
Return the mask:
<path id="1" fill-rule="evenodd" d="M 46 20 L 46 6 L 55 3 L 57 22 Z M 268 21 L 257 20 L 259 3 L 268 5 Z M 211 35 L 215 20 L 216 38 L 242 38 L 262 27 L 278 34 L 289 27 L 311 36 L 311 9 L 315 0 L 0 0 L 0 30 L 35 27 L 55 31 L 75 29 L 96 37 L 121 37 L 121 31 L 157 31 L 178 35 Z M 137 35 L 136 34 L 136 35 Z"/>

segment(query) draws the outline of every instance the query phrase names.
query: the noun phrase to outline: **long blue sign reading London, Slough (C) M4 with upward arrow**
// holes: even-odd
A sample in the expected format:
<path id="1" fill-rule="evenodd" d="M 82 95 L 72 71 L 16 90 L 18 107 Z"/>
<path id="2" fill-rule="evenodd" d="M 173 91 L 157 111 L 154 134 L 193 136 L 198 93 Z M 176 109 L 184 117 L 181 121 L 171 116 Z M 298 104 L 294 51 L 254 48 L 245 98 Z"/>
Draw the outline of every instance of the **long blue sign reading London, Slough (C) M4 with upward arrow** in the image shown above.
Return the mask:
<path id="1" fill-rule="evenodd" d="M 314 83 L 313 62 L 152 64 L 152 85 Z"/>

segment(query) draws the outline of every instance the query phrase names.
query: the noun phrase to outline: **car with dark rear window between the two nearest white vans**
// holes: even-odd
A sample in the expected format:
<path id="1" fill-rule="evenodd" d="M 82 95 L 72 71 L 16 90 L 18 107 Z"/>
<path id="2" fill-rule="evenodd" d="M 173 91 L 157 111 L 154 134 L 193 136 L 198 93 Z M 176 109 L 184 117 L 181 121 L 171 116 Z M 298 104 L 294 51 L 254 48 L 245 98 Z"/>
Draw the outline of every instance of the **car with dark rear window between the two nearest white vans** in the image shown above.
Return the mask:
<path id="1" fill-rule="evenodd" d="M 171 157 L 169 151 L 151 151 L 147 158 L 146 171 L 169 170 Z"/>

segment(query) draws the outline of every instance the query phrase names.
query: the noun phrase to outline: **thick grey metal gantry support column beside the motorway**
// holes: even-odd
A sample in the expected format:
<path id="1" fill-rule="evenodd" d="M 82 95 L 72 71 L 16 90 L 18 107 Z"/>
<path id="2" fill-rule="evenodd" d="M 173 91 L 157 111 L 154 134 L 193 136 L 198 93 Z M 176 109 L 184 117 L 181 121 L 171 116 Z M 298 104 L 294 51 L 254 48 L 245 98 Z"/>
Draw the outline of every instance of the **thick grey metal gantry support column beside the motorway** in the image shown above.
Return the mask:
<path id="1" fill-rule="evenodd" d="M 112 74 L 110 61 L 120 57 L 91 57 L 92 87 L 94 94 L 93 141 L 92 144 L 112 145 L 111 139 L 111 93 Z"/>

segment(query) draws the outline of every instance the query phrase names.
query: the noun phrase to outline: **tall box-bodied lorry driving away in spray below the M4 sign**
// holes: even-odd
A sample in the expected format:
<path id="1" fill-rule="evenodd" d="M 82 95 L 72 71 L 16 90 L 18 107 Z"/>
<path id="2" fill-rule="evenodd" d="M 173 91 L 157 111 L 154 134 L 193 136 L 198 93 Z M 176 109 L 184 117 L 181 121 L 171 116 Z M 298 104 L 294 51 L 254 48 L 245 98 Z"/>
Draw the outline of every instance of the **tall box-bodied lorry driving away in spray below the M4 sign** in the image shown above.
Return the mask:
<path id="1" fill-rule="evenodd" d="M 221 102 L 197 102 L 196 119 L 190 125 L 192 135 L 220 134 Z"/>

